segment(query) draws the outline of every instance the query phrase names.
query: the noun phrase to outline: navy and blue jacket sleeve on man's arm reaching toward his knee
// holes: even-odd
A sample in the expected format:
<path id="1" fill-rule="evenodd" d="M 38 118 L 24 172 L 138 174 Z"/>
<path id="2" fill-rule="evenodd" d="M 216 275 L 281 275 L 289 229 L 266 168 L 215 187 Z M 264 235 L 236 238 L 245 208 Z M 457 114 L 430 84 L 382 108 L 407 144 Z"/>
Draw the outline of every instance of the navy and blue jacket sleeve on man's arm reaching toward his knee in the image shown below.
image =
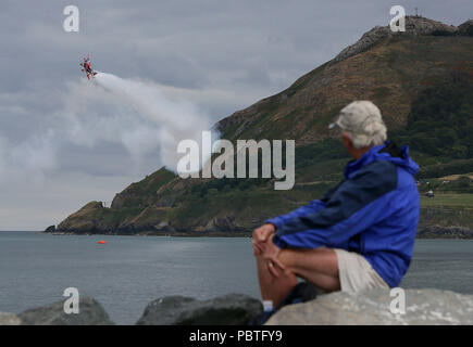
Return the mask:
<path id="1" fill-rule="evenodd" d="M 324 208 L 295 216 L 277 229 L 273 242 L 278 247 L 348 248 L 349 239 L 393 214 L 397 168 L 375 162 L 344 182 Z"/>

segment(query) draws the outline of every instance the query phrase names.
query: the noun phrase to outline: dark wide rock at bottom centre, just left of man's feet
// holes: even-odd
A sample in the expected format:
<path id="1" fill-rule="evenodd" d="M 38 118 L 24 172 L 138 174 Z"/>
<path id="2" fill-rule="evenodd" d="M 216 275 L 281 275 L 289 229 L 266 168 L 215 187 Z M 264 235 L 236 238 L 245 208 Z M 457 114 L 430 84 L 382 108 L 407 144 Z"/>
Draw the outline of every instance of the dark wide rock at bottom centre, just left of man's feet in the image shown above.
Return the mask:
<path id="1" fill-rule="evenodd" d="M 137 325 L 246 325 L 262 312 L 261 301 L 239 294 L 210 300 L 167 296 L 148 304 Z"/>

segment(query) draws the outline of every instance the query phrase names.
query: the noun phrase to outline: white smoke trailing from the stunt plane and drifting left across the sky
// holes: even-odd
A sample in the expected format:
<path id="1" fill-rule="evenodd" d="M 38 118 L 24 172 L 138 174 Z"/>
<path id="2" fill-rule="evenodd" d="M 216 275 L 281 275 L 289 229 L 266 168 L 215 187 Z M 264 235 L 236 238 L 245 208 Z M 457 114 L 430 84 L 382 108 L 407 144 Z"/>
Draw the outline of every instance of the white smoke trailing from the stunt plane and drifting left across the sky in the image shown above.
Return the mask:
<path id="1" fill-rule="evenodd" d="M 177 144 L 187 139 L 200 143 L 211 119 L 194 103 L 165 97 L 161 88 L 104 73 L 94 81 L 67 82 L 65 90 L 51 95 L 57 112 L 42 133 L 38 129 L 21 141 L 0 137 L 0 180 L 41 181 L 41 176 L 61 167 L 59 153 L 71 143 L 99 151 L 103 142 L 123 146 L 138 166 L 155 152 L 153 167 L 176 171 L 183 156 Z M 214 131 L 213 140 L 217 137 Z"/>

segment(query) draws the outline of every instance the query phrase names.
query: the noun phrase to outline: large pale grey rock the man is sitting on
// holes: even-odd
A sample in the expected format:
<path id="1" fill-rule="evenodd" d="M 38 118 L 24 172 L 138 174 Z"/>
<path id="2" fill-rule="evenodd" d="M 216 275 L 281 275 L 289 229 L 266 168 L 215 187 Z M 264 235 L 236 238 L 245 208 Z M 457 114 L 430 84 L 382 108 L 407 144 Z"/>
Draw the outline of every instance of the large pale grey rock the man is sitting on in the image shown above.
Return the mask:
<path id="1" fill-rule="evenodd" d="M 286 306 L 267 325 L 431 325 L 473 324 L 473 295 L 439 290 L 404 290 L 406 313 L 391 313 L 389 290 L 337 292 Z"/>

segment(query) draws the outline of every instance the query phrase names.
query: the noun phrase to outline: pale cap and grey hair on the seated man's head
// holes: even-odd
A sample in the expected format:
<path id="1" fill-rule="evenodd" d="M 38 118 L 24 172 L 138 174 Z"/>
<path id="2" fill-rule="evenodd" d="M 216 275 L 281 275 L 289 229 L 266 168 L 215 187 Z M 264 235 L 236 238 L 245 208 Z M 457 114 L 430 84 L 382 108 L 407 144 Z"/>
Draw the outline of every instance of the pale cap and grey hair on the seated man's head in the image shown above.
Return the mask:
<path id="1" fill-rule="evenodd" d="M 358 150 L 386 141 L 386 126 L 381 111 L 371 101 L 353 101 L 345 106 L 336 124 Z"/>

